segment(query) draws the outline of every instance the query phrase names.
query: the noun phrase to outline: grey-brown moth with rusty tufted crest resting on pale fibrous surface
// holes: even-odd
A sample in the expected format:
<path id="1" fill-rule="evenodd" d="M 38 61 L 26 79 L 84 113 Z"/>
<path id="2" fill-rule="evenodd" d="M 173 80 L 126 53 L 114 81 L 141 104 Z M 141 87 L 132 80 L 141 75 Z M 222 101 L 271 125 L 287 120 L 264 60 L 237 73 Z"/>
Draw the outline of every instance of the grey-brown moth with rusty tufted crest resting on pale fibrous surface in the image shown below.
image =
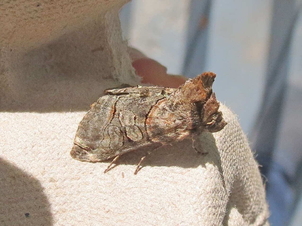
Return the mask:
<path id="1" fill-rule="evenodd" d="M 162 146 L 226 125 L 212 84 L 216 74 L 204 72 L 178 88 L 137 86 L 108 89 L 92 103 L 79 124 L 70 152 L 86 162 L 114 159 L 150 145 Z M 146 156 L 140 159 L 134 174 Z"/>

